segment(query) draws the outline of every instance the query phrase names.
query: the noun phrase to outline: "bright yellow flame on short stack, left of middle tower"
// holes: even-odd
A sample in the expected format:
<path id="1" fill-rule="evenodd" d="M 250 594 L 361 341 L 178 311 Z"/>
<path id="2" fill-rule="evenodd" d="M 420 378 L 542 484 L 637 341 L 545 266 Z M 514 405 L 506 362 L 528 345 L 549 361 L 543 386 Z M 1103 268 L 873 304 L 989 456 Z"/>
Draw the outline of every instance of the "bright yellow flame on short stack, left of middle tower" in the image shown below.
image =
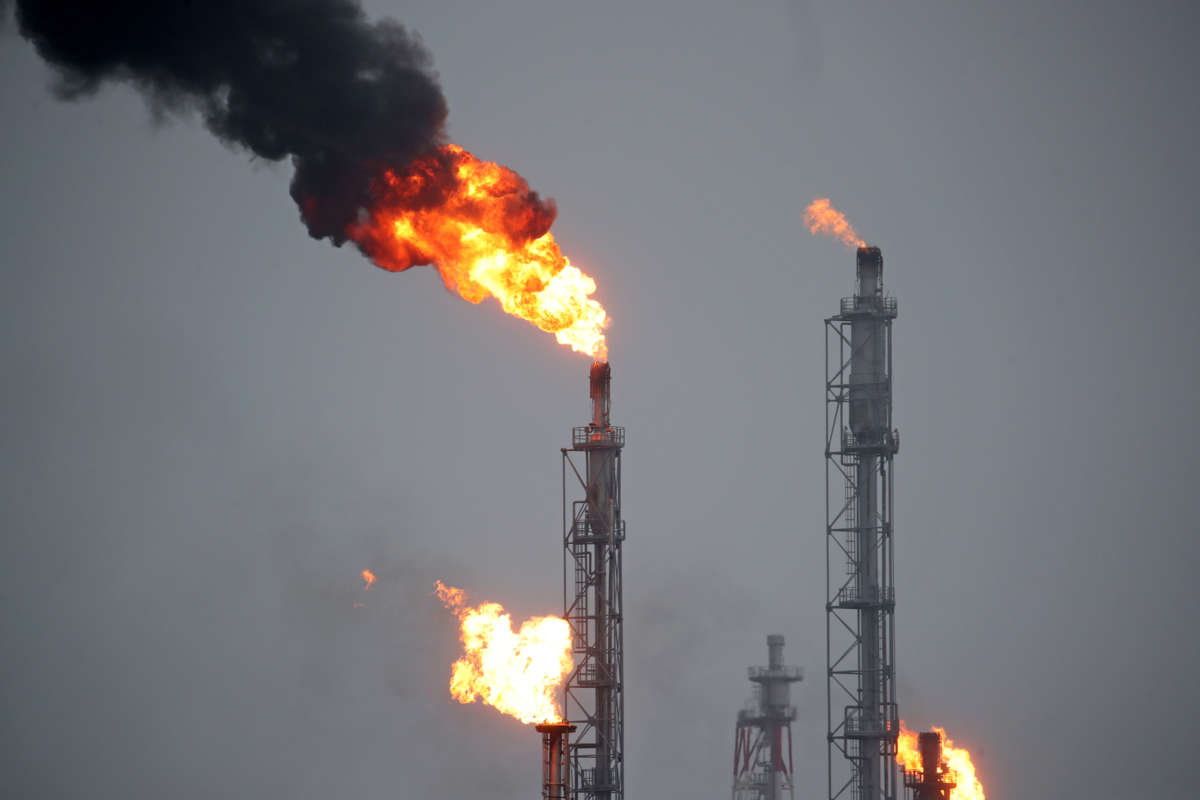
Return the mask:
<path id="1" fill-rule="evenodd" d="M 451 668 L 450 694 L 460 703 L 481 700 L 524 723 L 560 721 L 556 697 L 574 667 L 566 620 L 534 616 L 514 631 L 499 603 L 470 607 L 462 589 L 440 581 L 434 594 L 462 626 L 463 656 Z"/>

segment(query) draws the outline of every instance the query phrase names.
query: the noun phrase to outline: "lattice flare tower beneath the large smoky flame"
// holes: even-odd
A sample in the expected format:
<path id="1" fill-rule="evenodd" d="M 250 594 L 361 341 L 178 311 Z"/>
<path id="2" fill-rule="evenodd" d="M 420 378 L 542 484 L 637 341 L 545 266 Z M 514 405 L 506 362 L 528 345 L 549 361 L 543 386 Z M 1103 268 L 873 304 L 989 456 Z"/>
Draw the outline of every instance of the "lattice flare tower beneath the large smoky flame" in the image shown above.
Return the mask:
<path id="1" fill-rule="evenodd" d="M 624 800 L 625 696 L 620 552 L 620 451 L 625 429 L 610 425 L 612 372 L 590 372 L 592 422 L 563 449 L 563 616 L 575 669 L 566 679 L 566 747 L 572 800 Z M 568 492 L 570 489 L 570 493 Z M 583 499 L 577 499 L 578 494 Z"/>

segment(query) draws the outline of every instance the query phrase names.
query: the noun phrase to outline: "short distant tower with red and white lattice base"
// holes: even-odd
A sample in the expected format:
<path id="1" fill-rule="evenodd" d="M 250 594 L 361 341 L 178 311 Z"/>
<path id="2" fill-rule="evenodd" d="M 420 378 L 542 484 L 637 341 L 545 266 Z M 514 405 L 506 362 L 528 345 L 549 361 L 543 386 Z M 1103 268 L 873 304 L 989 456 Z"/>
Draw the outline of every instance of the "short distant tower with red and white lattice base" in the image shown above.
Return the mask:
<path id="1" fill-rule="evenodd" d="M 784 663 L 784 637 L 767 637 L 767 666 L 750 667 L 754 696 L 733 735 L 733 800 L 794 800 L 791 685 L 804 678 Z"/>

